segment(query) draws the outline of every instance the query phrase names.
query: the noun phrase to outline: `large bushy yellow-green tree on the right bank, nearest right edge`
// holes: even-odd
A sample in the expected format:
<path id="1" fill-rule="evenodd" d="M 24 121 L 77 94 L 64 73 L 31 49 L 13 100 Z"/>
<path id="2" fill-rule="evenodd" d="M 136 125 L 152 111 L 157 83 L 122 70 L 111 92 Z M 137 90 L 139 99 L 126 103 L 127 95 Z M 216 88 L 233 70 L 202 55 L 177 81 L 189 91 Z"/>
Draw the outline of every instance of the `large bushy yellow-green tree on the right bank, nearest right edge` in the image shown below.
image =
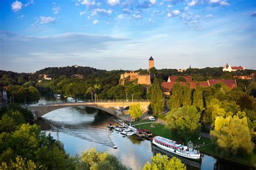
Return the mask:
<path id="1" fill-rule="evenodd" d="M 249 154 L 253 151 L 250 131 L 246 117 L 239 119 L 238 115 L 215 120 L 214 130 L 210 133 L 217 141 L 218 147 L 225 155 Z"/>

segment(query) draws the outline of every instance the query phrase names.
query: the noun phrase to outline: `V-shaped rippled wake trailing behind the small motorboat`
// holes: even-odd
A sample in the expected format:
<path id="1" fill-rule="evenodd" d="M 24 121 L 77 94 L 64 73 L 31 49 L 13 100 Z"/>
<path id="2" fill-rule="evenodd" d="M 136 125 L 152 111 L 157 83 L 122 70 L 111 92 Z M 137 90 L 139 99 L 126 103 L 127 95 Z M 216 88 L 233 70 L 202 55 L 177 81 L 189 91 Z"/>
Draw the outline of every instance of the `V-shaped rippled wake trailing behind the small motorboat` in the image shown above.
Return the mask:
<path id="1" fill-rule="evenodd" d="M 51 126 L 53 132 L 63 132 L 70 134 L 74 137 L 96 142 L 105 146 L 111 147 L 114 145 L 113 140 L 110 137 L 111 131 L 107 128 L 107 123 L 105 124 L 89 124 L 76 123 L 76 124 L 63 124 L 62 122 L 58 123 L 57 121 L 52 121 L 46 118 L 42 118 L 45 123 Z"/>

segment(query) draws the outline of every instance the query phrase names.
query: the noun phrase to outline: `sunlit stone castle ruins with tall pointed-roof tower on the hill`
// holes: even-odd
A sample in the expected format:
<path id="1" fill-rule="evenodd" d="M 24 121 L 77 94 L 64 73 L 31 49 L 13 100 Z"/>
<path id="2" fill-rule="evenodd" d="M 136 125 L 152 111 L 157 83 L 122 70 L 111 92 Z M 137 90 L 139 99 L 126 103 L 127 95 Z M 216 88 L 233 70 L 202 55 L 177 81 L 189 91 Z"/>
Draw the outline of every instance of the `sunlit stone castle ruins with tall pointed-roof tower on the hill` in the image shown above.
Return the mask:
<path id="1" fill-rule="evenodd" d="M 154 59 L 151 56 L 150 59 L 149 59 L 149 70 L 152 67 L 154 67 Z M 119 83 L 124 85 L 124 83 L 127 82 L 127 81 L 133 81 L 133 80 L 137 79 L 138 84 L 150 85 L 152 78 L 153 78 L 153 75 L 150 74 L 150 73 L 149 74 L 141 74 L 140 72 L 131 71 L 129 73 L 121 74 Z"/>

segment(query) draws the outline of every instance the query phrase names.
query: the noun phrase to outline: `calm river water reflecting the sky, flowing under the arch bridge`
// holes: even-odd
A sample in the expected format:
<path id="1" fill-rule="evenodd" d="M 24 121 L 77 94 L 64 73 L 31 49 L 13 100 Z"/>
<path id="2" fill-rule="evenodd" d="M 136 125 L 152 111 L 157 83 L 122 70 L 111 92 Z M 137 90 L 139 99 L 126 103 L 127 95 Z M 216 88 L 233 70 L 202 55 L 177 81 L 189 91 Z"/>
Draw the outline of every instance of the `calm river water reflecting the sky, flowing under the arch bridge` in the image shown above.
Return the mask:
<path id="1" fill-rule="evenodd" d="M 62 102 L 62 99 L 42 97 L 39 103 Z M 66 107 L 45 114 L 37 121 L 46 134 L 51 133 L 53 138 L 63 142 L 65 151 L 70 155 L 80 154 L 92 147 L 97 151 L 107 151 L 132 169 L 143 167 L 156 153 L 170 153 L 151 144 L 151 141 L 140 141 L 135 136 L 123 137 L 116 131 L 109 131 L 107 123 L 117 119 L 113 115 L 90 107 Z M 116 145 L 113 149 L 110 145 Z M 245 166 L 233 164 L 210 155 L 201 153 L 200 161 L 181 159 L 187 169 L 250 169 Z"/>

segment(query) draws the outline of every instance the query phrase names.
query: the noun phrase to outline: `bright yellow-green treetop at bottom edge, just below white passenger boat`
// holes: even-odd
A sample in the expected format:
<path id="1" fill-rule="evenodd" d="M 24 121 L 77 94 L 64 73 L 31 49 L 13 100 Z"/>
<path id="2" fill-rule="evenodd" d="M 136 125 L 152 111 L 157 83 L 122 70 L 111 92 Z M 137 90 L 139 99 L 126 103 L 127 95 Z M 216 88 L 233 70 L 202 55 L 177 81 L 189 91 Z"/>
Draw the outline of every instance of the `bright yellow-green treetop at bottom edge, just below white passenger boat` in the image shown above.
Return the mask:
<path id="1" fill-rule="evenodd" d="M 150 162 L 147 162 L 144 165 L 143 170 L 186 170 L 186 165 L 183 164 L 181 160 L 176 157 L 169 159 L 167 155 L 161 156 L 161 154 L 158 153 L 151 158 L 151 161 L 151 164 Z"/>

